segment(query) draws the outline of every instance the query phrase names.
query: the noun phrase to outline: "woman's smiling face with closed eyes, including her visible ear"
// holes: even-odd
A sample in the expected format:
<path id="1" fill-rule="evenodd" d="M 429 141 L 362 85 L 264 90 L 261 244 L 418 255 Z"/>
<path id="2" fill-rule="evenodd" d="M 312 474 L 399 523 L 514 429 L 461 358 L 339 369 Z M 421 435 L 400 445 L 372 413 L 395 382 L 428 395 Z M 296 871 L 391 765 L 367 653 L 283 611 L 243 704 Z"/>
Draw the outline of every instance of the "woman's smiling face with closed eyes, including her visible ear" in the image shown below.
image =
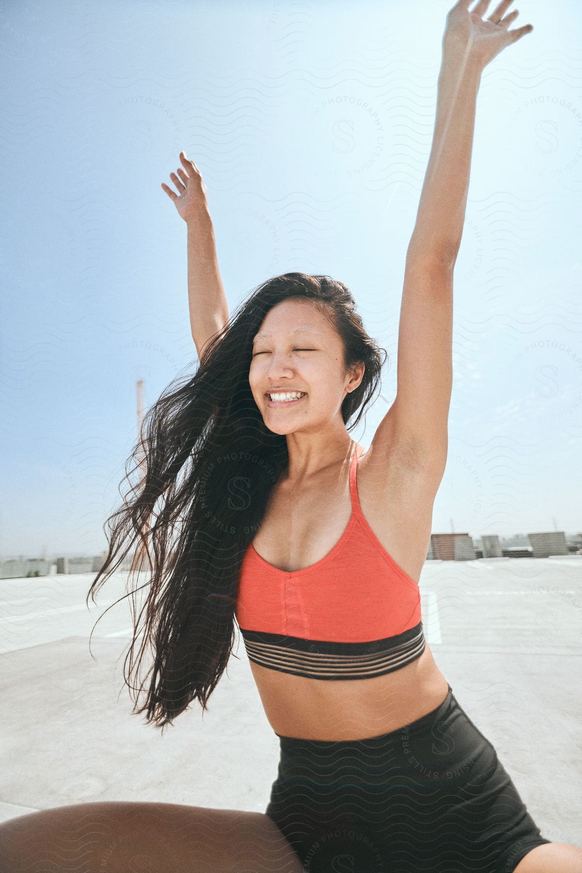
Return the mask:
<path id="1" fill-rule="evenodd" d="M 338 416 L 342 422 L 341 404 L 363 374 L 363 365 L 346 374 L 343 342 L 309 300 L 277 303 L 253 342 L 250 389 L 273 433 L 320 430 L 337 423 Z M 285 399 L 287 392 L 298 392 L 298 399 Z M 278 396 L 273 401 L 270 394 Z"/>

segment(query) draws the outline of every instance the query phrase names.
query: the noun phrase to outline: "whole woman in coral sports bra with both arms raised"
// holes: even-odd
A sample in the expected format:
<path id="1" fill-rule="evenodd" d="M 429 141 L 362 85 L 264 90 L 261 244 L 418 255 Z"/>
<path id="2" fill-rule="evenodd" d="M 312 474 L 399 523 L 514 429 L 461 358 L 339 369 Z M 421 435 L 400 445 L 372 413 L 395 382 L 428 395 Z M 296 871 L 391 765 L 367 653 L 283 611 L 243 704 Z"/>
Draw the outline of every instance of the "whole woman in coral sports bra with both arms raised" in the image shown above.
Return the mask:
<path id="1" fill-rule="evenodd" d="M 288 273 L 229 320 L 195 164 L 181 154 L 178 196 L 162 185 L 188 223 L 200 367 L 148 413 L 140 481 L 113 516 L 91 592 L 140 538 L 151 567 L 142 652 L 151 643 L 154 669 L 137 711 L 162 731 L 193 700 L 207 708 L 236 615 L 279 737 L 277 779 L 265 814 L 89 803 L 21 816 L 0 828 L 2 870 L 582 870 L 581 849 L 541 836 L 436 666 L 420 613 L 476 94 L 483 67 L 531 31 L 509 31 L 510 2 L 486 20 L 486 2 L 448 13 L 397 395 L 365 452 L 348 431 L 382 350 L 346 286 Z"/>

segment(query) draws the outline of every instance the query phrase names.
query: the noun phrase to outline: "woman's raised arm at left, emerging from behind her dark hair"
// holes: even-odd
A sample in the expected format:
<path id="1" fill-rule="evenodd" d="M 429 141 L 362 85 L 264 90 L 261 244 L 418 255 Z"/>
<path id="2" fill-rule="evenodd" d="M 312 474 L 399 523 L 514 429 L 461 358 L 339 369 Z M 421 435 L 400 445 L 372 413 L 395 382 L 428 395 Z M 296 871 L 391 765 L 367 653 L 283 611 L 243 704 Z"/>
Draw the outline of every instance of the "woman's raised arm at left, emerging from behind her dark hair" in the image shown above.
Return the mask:
<path id="1" fill-rule="evenodd" d="M 210 218 L 207 189 L 200 170 L 180 153 L 180 178 L 170 173 L 178 194 L 164 182 L 162 189 L 175 203 L 178 215 L 188 227 L 188 306 L 190 329 L 198 358 L 215 333 L 229 320 L 229 305 L 218 267 L 214 226 Z"/>

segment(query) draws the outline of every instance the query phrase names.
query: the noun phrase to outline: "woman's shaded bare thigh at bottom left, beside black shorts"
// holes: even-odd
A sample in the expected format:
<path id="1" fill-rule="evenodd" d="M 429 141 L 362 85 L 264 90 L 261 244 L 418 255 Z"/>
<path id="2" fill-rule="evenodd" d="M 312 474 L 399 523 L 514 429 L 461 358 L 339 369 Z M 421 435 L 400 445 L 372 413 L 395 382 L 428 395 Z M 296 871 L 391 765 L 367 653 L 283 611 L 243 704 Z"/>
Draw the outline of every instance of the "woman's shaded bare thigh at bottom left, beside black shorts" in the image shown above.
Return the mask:
<path id="1" fill-rule="evenodd" d="M 0 825 L 2 873 L 305 873 L 264 813 L 102 801 Z"/>

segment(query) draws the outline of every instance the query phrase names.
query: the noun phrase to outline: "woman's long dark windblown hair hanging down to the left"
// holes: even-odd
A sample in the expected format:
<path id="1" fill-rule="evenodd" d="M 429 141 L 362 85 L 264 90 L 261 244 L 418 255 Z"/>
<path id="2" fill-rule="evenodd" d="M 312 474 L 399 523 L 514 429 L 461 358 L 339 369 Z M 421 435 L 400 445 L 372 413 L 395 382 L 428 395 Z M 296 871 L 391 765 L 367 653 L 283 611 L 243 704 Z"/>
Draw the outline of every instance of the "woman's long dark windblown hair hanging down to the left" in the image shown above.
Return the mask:
<path id="1" fill-rule="evenodd" d="M 138 590 L 149 590 L 137 621 L 134 603 L 124 677 L 135 691 L 127 682 L 127 659 L 131 678 L 151 646 L 154 663 L 137 689 L 139 697 L 151 675 L 145 704 L 138 707 L 132 699 L 134 713 L 147 710 L 147 722 L 154 721 L 162 733 L 193 700 L 200 701 L 202 714 L 208 708 L 235 642 L 243 555 L 288 463 L 285 436 L 264 425 L 249 368 L 252 341 L 266 313 L 289 298 L 312 300 L 330 318 L 343 340 L 346 372 L 364 362 L 358 388 L 341 407 L 347 430 L 359 423 L 387 352 L 366 333 L 352 293 L 329 276 L 290 272 L 270 278 L 209 340 L 195 375 L 176 377 L 148 410 L 126 462 L 124 503 L 104 525 L 109 550 L 86 599 L 91 595 L 95 602 L 106 578 L 138 543 L 149 565 L 147 585 Z M 134 591 L 125 596 L 130 594 Z"/>

